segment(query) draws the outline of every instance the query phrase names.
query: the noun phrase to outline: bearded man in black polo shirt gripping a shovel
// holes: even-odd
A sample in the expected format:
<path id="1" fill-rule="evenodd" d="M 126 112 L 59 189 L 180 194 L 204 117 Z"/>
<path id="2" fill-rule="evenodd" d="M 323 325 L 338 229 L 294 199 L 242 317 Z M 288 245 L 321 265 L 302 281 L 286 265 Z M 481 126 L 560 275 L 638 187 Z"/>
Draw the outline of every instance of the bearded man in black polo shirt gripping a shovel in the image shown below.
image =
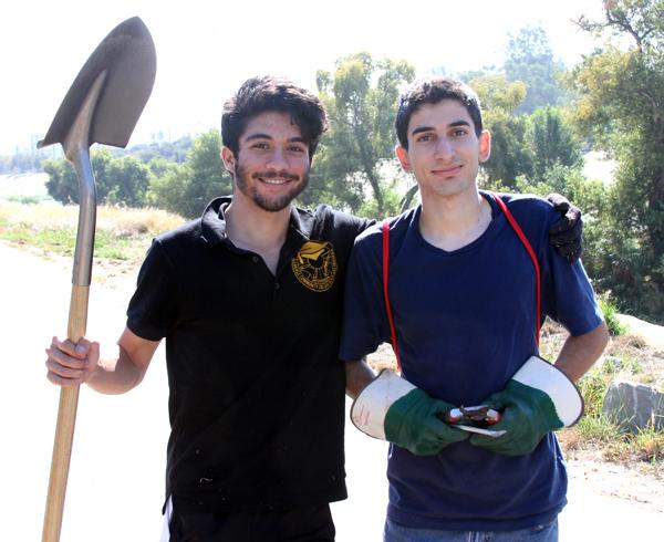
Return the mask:
<path id="1" fill-rule="evenodd" d="M 329 502 L 346 497 L 342 289 L 371 221 L 291 206 L 325 125 L 308 91 L 247 81 L 221 124 L 232 198 L 155 239 L 118 359 L 100 361 L 86 340 L 48 350 L 51 382 L 124 393 L 166 338 L 165 540 L 334 540 Z"/>

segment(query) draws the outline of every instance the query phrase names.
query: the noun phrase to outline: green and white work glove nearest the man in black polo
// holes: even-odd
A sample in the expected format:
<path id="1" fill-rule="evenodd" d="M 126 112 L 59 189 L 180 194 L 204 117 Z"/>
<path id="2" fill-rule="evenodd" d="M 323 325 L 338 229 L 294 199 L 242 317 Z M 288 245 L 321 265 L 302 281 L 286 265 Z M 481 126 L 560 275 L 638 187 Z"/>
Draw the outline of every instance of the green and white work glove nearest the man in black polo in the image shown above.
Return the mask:
<path id="1" fill-rule="evenodd" d="M 440 419 L 450 408 L 454 406 L 434 399 L 392 371 L 382 371 L 354 400 L 351 419 L 370 437 L 388 440 L 417 456 L 433 456 L 469 437 Z"/>

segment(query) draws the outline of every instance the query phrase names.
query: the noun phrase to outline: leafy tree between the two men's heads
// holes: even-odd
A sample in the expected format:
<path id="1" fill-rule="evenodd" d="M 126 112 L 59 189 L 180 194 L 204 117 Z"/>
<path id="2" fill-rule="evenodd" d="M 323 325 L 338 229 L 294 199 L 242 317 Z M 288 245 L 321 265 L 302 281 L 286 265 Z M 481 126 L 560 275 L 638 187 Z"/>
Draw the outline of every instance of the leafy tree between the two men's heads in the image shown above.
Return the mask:
<path id="1" fill-rule="evenodd" d="M 332 201 L 359 212 L 370 192 L 376 216 L 396 212 L 393 183 L 382 178 L 394 160 L 394 118 L 401 86 L 414 79 L 405 61 L 374 60 L 369 53 L 340 59 L 333 73 L 319 71 L 317 86 L 330 116 L 330 132 L 321 143 L 303 202 L 331 196 Z"/>

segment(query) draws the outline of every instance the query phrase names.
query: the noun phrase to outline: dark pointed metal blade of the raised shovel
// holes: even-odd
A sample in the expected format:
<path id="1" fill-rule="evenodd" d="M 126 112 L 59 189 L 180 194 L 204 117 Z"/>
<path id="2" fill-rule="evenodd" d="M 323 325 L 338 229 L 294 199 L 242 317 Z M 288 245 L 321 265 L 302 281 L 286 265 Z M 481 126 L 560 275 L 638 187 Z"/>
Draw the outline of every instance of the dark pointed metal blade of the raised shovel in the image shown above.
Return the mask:
<path id="1" fill-rule="evenodd" d="M 38 147 L 64 145 L 92 84 L 104 72 L 106 76 L 94 107 L 87 146 L 101 143 L 126 147 L 152 92 L 156 70 L 155 44 L 147 27 L 137 17 L 122 22 L 90 55 Z"/>

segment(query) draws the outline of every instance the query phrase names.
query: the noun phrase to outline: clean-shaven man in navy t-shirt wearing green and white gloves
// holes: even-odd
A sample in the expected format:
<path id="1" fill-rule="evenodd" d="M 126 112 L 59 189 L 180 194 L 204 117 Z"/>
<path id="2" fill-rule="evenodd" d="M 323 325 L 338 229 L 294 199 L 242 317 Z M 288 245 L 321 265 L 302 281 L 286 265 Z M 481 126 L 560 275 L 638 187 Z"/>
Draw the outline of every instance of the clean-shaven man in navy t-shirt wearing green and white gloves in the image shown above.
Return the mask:
<path id="1" fill-rule="evenodd" d="M 417 82 L 395 124 L 422 205 L 355 241 L 340 355 L 353 423 L 392 442 L 384 540 L 554 541 L 567 475 L 552 431 L 581 415 L 572 383 L 608 342 L 594 293 L 547 242 L 549 202 L 478 189 L 491 142 L 469 87 Z M 570 333 L 553 365 L 537 357 L 546 315 Z M 387 341 L 402 375 L 375 378 L 357 359 Z M 486 418 L 455 410 L 476 405 Z"/>

